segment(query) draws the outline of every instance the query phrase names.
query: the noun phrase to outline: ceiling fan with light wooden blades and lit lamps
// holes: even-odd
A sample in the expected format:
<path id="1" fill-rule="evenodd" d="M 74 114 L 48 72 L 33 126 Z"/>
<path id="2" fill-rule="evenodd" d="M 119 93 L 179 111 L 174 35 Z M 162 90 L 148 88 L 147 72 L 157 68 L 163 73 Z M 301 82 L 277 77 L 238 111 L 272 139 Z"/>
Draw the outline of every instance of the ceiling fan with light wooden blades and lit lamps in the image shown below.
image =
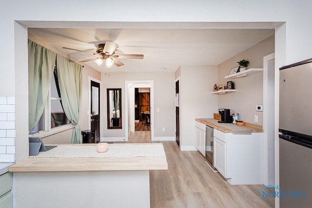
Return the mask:
<path id="1" fill-rule="evenodd" d="M 106 41 L 105 43 L 98 44 L 97 52 L 86 52 L 86 51 L 81 51 L 78 49 L 73 49 L 73 48 L 67 48 L 67 47 L 62 47 L 64 49 L 69 49 L 73 51 L 79 51 L 83 53 L 91 53 L 93 55 L 96 55 L 96 57 L 92 57 L 86 60 L 82 60 L 80 62 L 88 62 L 91 60 L 95 60 L 96 64 L 100 66 L 104 61 L 106 64 L 107 68 L 113 67 L 113 65 L 116 66 L 123 66 L 124 64 L 117 60 L 118 58 L 135 58 L 135 59 L 143 59 L 143 55 L 141 54 L 115 54 L 115 50 L 117 48 L 117 44 L 111 41 Z"/>

